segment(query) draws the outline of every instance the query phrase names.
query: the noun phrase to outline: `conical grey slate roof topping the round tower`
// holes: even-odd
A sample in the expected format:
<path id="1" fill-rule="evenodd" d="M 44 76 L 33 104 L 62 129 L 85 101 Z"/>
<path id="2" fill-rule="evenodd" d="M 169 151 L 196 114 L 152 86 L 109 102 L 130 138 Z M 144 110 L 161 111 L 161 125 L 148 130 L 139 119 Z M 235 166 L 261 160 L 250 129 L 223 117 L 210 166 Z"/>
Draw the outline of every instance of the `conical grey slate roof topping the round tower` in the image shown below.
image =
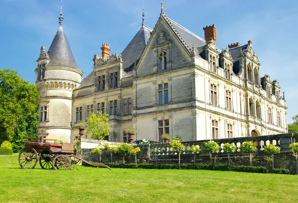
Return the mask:
<path id="1" fill-rule="evenodd" d="M 74 61 L 74 56 L 71 47 L 68 43 L 68 40 L 62 27 L 62 16 L 63 14 L 61 12 L 59 17 L 60 26 L 48 51 L 49 57 L 51 59 L 48 66 L 64 66 L 78 69 Z"/>

